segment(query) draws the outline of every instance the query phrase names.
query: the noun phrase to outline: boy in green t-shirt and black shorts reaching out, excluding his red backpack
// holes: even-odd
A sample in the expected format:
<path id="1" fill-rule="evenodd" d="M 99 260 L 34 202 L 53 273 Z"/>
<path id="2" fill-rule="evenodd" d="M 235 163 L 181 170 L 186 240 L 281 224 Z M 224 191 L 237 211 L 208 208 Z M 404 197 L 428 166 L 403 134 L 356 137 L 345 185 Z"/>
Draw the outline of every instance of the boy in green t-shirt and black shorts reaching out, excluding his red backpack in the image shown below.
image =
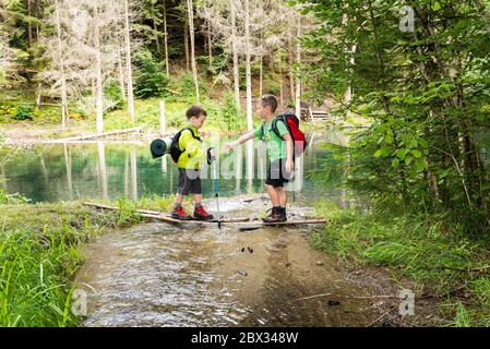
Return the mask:
<path id="1" fill-rule="evenodd" d="M 224 147 L 224 152 L 228 152 L 252 139 L 260 139 L 267 143 L 268 166 L 265 184 L 273 207 L 271 214 L 263 218 L 265 222 L 287 220 L 287 192 L 284 189 L 284 184 L 288 182 L 295 167 L 292 139 L 286 124 L 283 121 L 277 121 L 277 130 L 280 137 L 272 129 L 276 109 L 277 98 L 275 96 L 262 96 L 256 105 L 256 113 L 262 121 L 262 125 L 252 132 L 243 134 L 237 141 L 226 144 Z"/>

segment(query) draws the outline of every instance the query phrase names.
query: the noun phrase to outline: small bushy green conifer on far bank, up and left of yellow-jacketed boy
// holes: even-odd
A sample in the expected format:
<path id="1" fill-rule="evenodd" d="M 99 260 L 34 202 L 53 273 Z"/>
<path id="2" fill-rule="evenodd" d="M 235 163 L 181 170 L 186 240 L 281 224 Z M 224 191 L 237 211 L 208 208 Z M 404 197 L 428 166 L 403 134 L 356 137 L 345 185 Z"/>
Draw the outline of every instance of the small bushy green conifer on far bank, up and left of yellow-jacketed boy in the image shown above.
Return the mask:
<path id="1" fill-rule="evenodd" d="M 142 98 L 162 97 L 167 93 L 168 76 L 164 63 L 158 62 L 147 49 L 134 55 L 134 94 Z"/>

